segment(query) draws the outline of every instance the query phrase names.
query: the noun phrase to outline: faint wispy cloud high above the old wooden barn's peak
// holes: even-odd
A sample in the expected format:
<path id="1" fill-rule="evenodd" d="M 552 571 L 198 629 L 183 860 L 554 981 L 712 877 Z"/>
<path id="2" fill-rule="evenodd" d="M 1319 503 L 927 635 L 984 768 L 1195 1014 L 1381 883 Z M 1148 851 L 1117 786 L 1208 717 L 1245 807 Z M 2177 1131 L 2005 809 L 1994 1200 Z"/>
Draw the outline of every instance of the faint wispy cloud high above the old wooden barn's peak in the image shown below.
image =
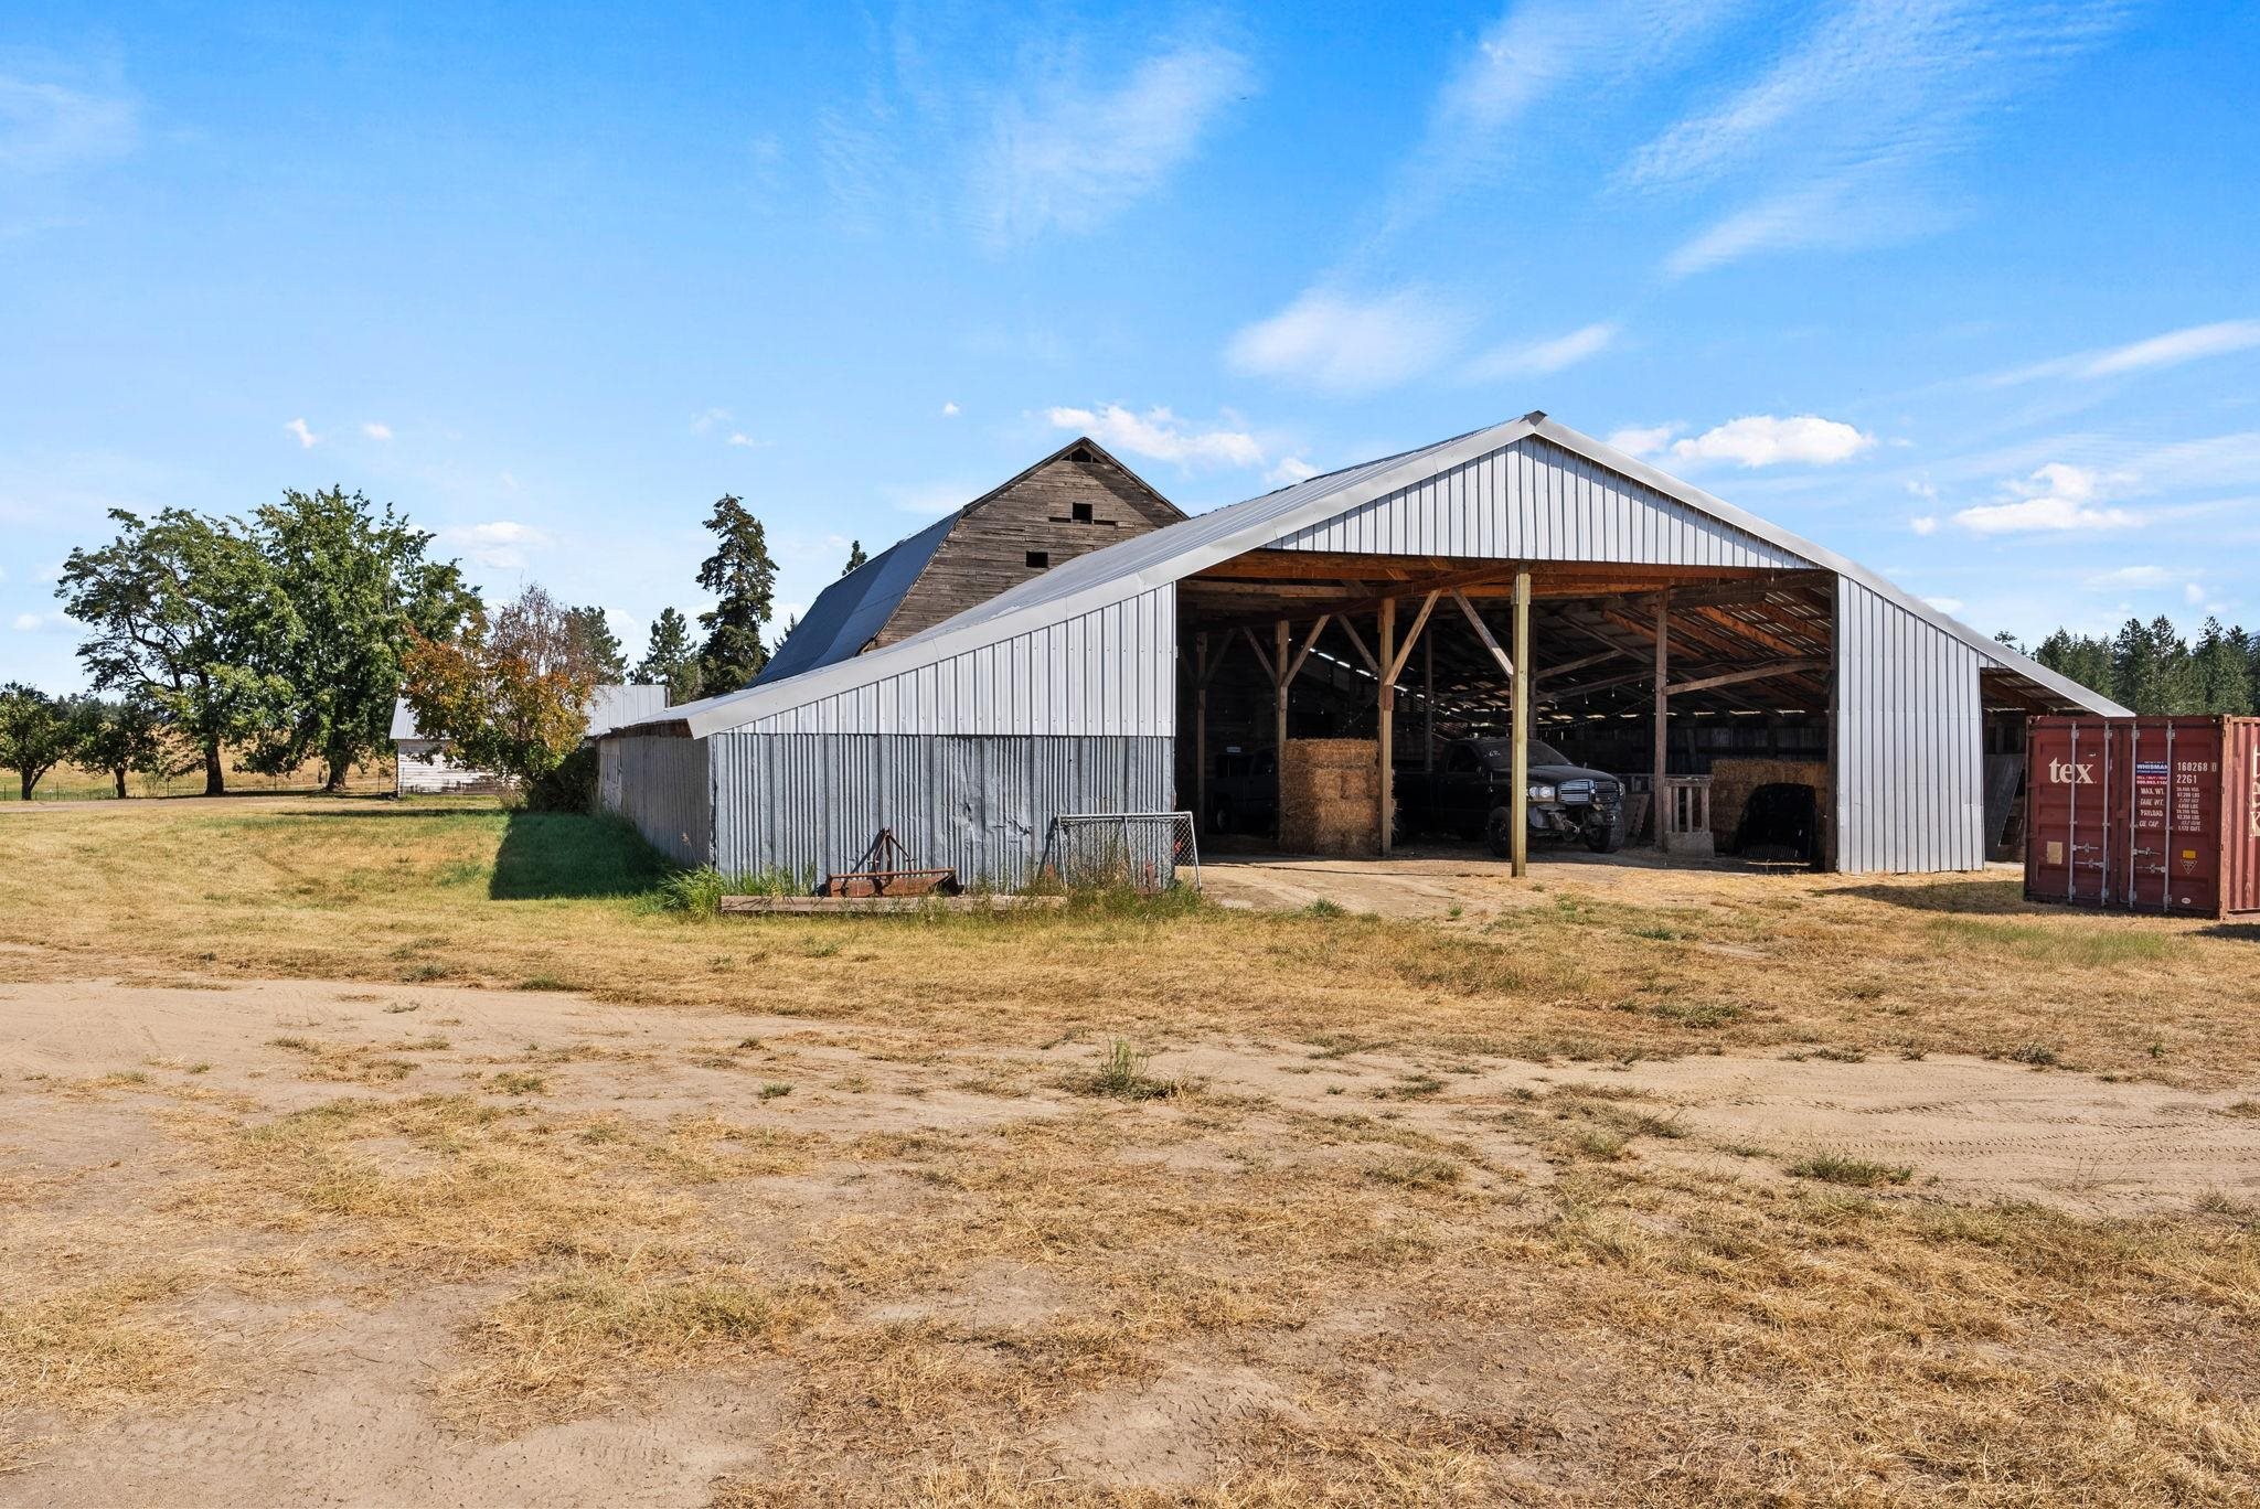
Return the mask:
<path id="1" fill-rule="evenodd" d="M 1162 187 L 1252 86 L 1238 52 L 1186 43 L 1146 59 L 1112 90 L 1046 79 L 1001 99 L 974 165 L 983 235 L 1010 246 L 1103 226 Z"/>

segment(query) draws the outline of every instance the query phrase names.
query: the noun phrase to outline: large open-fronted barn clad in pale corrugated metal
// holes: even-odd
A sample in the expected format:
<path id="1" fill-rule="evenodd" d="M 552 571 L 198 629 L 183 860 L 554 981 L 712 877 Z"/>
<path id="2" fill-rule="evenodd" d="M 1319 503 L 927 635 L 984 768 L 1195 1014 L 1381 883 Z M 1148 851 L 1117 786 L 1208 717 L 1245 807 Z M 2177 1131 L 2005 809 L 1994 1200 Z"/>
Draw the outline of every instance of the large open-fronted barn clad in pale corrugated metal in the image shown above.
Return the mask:
<path id="1" fill-rule="evenodd" d="M 1516 594 L 1521 642 L 1498 619 Z M 893 829 L 920 863 L 1015 886 L 1055 815 L 1200 804 L 1211 698 L 1232 684 L 1284 736 L 1376 732 L 1385 804 L 1388 750 L 1426 759 L 1440 723 L 1503 714 L 1516 660 L 1539 736 L 1614 752 L 1607 768 L 1700 770 L 1718 750 L 1817 761 L 1842 872 L 1977 867 L 1998 838 L 1987 752 L 2020 745 L 2032 714 L 2120 712 L 1532 413 L 1031 572 L 897 644 L 617 730 L 603 791 L 689 865 L 820 879 Z"/>

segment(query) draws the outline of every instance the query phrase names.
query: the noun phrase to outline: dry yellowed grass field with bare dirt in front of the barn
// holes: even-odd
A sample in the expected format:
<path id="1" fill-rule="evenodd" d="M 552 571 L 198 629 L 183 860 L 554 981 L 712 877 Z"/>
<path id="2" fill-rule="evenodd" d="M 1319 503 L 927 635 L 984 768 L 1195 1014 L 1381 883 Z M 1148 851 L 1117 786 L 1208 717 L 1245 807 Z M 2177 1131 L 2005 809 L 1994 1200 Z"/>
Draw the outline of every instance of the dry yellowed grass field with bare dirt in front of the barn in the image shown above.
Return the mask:
<path id="1" fill-rule="evenodd" d="M 1469 872 L 0 811 L 0 1502 L 2260 1502 L 2251 928 Z"/>

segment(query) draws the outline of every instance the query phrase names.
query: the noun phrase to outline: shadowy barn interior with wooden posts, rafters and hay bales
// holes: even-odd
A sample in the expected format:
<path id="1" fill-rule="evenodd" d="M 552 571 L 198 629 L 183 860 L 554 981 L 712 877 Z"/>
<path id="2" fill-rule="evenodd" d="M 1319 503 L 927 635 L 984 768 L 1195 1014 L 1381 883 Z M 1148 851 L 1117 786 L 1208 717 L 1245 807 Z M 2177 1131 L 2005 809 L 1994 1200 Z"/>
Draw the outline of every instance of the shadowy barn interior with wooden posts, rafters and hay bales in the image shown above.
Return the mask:
<path id="1" fill-rule="evenodd" d="M 1528 664 L 1528 739 L 1625 782 L 1627 845 L 1681 856 L 1763 847 L 1758 858 L 1828 867 L 1833 605 L 1835 574 L 1813 569 L 1250 551 L 1177 585 L 1180 802 L 1211 843 L 1351 854 L 1464 843 L 1469 834 L 1433 827 L 1397 831 L 1383 813 L 1417 811 L 1397 802 L 1399 788 L 1433 791 L 1444 761 L 1464 766 L 1453 741 L 1514 739 L 1516 664 Z M 2014 779 L 1996 813 L 1991 770 L 2020 768 L 2023 721 L 2045 709 L 2045 694 L 1989 671 L 1984 705 L 1989 831 L 2007 843 Z M 1363 836 L 1313 843 L 1293 820 L 1281 741 L 1372 741 L 1374 775 L 1363 788 L 1338 782 L 1347 795 L 1333 797 L 1372 795 Z M 1767 813 L 1783 795 L 1797 806 L 1794 791 L 1758 797 L 1761 786 L 1810 791 L 1801 843 L 1758 831 L 1765 815 L 1751 827 L 1754 797 Z"/>

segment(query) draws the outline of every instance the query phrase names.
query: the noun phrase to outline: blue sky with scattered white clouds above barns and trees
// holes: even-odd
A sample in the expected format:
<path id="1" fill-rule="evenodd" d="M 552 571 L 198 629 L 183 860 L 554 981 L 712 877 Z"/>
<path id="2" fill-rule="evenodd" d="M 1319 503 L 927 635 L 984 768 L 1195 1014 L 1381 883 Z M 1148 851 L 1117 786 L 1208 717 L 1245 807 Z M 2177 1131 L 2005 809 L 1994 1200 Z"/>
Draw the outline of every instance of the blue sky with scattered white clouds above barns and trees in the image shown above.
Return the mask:
<path id="1" fill-rule="evenodd" d="M 1394 14 L 1385 14 L 1394 11 Z M 2235 5 L 0 11 L 0 675 L 104 508 L 344 483 L 780 603 L 1089 431 L 1186 508 L 1546 409 L 1984 630 L 2260 623 Z"/>

